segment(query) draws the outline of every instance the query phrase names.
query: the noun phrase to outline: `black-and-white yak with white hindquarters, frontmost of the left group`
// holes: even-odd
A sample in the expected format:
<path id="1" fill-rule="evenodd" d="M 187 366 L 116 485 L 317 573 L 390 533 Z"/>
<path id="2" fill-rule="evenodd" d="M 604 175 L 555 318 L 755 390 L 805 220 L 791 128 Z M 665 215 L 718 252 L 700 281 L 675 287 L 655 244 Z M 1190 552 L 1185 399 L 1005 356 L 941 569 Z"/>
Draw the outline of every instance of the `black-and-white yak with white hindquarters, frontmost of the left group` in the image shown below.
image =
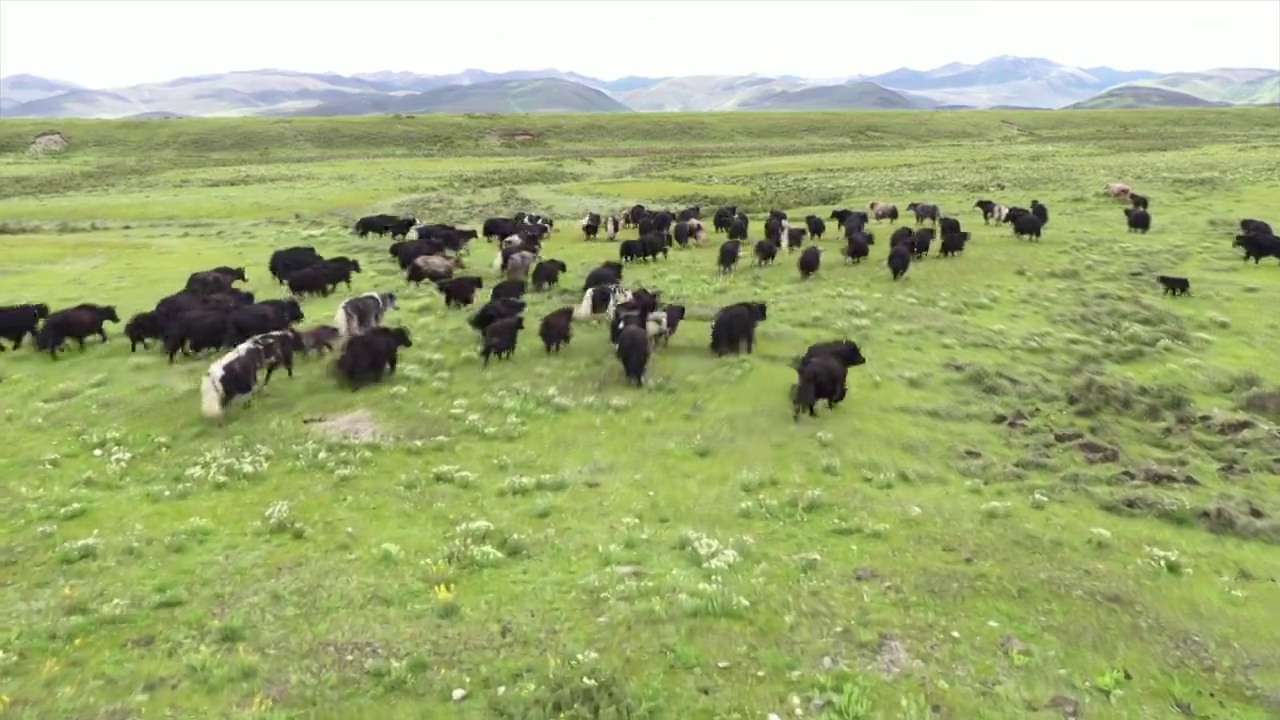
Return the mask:
<path id="1" fill-rule="evenodd" d="M 301 351 L 302 336 L 296 331 L 276 331 L 253 336 L 223 355 L 200 380 L 200 410 L 210 420 L 223 416 L 227 405 L 237 396 L 248 396 L 257 386 L 257 373 L 264 366 L 262 387 L 271 382 L 276 368 L 293 377 L 293 354 Z M 247 401 L 246 401 L 247 405 Z"/>

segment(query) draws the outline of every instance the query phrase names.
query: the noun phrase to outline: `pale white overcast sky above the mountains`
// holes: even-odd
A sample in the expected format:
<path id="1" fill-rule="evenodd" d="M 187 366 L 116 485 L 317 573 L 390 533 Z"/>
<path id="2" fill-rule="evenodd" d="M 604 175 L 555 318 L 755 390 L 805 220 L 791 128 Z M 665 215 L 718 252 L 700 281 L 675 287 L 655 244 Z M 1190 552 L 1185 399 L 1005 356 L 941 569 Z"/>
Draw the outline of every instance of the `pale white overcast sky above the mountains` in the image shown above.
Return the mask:
<path id="1" fill-rule="evenodd" d="M 0 76 L 90 87 L 262 68 L 824 78 L 995 55 L 1277 68 L 1280 1 L 0 0 Z"/>

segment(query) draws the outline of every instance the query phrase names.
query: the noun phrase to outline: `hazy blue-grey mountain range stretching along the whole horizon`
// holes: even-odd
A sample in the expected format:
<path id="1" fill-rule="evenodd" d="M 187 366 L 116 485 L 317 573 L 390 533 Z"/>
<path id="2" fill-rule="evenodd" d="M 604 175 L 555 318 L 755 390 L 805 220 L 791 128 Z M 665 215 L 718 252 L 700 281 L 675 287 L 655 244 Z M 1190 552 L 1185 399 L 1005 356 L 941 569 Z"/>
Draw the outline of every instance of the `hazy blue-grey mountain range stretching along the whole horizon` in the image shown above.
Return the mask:
<path id="1" fill-rule="evenodd" d="M 3 118 L 625 113 L 960 108 L 1280 105 L 1280 70 L 1161 74 L 1001 55 L 877 76 L 680 76 L 598 79 L 554 69 L 355 76 L 246 70 L 96 90 L 29 74 L 0 78 Z"/>

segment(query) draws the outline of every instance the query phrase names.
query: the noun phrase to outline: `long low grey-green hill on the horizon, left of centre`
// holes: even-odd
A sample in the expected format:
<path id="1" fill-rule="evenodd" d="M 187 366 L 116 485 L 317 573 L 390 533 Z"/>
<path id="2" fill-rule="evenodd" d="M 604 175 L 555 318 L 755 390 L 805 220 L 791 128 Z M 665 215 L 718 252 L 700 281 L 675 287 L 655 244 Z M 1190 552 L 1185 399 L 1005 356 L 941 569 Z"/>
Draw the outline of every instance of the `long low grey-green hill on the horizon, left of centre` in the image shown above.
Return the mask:
<path id="1" fill-rule="evenodd" d="M 604 92 L 567 79 L 508 79 L 451 85 L 411 95 L 347 95 L 282 114 L 362 115 L 370 113 L 628 113 Z"/>

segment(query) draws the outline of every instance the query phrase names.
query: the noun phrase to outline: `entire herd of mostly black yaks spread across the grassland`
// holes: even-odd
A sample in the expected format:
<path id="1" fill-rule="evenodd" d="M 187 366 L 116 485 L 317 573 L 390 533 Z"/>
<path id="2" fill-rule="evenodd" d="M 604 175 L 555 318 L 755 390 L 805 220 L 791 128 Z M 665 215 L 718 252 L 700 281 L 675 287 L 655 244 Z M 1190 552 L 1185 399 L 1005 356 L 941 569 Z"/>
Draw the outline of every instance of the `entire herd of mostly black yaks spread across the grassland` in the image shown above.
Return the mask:
<path id="1" fill-rule="evenodd" d="M 1107 193 L 1126 201 L 1124 209 L 1129 232 L 1151 231 L 1149 200 L 1129 186 L 1108 183 Z M 983 223 L 1009 224 L 1018 238 L 1039 240 L 1048 224 L 1048 208 L 1032 200 L 1028 208 L 1005 206 L 992 200 L 979 200 L 974 208 Z M 927 258 L 937 241 L 938 255 L 952 258 L 963 254 L 969 242 L 960 222 L 942 214 L 936 204 L 911 202 L 906 213 L 915 227 L 895 227 L 888 238 L 886 265 L 893 281 L 901 279 L 913 261 Z M 896 225 L 896 205 L 873 201 L 867 210 L 838 209 L 835 220 L 844 247 L 846 264 L 860 264 L 870 255 L 876 236 L 872 223 Z M 727 237 L 717 254 L 719 273 L 732 273 L 748 243 L 750 218 L 736 206 L 716 210 L 712 232 Z M 929 227 L 924 227 L 925 223 Z M 817 215 L 804 218 L 803 227 L 792 227 L 785 211 L 771 210 L 764 219 L 764 238 L 749 246 L 755 265 L 776 263 L 780 254 L 797 251 L 796 266 L 803 279 L 813 277 L 822 265 L 822 247 L 805 246 L 806 238 L 822 240 L 827 222 Z M 611 345 L 627 382 L 640 387 L 652 354 L 666 347 L 685 319 L 685 306 L 660 300 L 660 293 L 644 287 L 627 288 L 622 283 L 627 264 L 667 258 L 672 249 L 701 246 L 708 232 L 701 209 L 678 211 L 650 210 L 635 205 L 602 217 L 588 213 L 581 219 L 585 241 L 618 241 L 622 228 L 636 228 L 635 240 L 617 242 L 618 260 L 604 261 L 585 274 L 582 299 L 576 305 L 553 310 L 538 320 L 538 336 L 547 354 L 558 354 L 568 346 L 575 324 L 604 319 Z M 490 218 L 481 229 L 462 229 L 447 224 L 424 224 L 416 218 L 371 215 L 361 218 L 352 233 L 360 237 L 390 236 L 388 254 L 404 273 L 408 283 L 430 282 L 440 293 L 447 309 L 466 309 L 477 304 L 476 293 L 485 281 L 476 274 L 462 274 L 468 243 L 484 237 L 498 243 L 492 264 L 497 279 L 489 288 L 488 301 L 472 313 L 467 323 L 479 333 L 479 355 L 484 365 L 492 357 L 511 359 L 518 337 L 526 329 L 524 296 L 529 290 L 544 291 L 559 284 L 568 266 L 543 254 L 544 243 L 554 232 L 554 220 L 536 214 L 516 213 L 511 218 Z M 413 236 L 410 238 L 410 236 Z M 1244 259 L 1257 264 L 1263 258 L 1280 259 L 1280 240 L 1271 227 L 1254 219 L 1240 220 L 1240 234 L 1234 247 L 1244 250 Z M 339 380 L 351 388 L 378 382 L 396 372 L 401 348 L 412 347 L 403 327 L 384 327 L 389 311 L 397 310 L 394 292 L 367 292 L 344 300 L 332 324 L 298 329 L 303 320 L 301 301 L 308 296 L 328 297 L 339 286 L 351 290 L 352 275 L 361 273 L 361 264 L 352 258 L 324 258 L 314 247 L 287 247 L 271 254 L 268 263 L 271 277 L 287 287 L 282 300 L 257 300 L 253 293 L 234 287 L 246 282 L 244 268 L 220 266 L 191 274 L 186 286 L 160 299 L 151 310 L 129 318 L 124 334 L 131 351 L 148 341 L 159 341 L 173 363 L 179 354 L 191 356 L 204 351 L 221 355 L 210 365 L 200 383 L 201 411 L 207 418 L 221 418 L 232 398 L 251 396 L 265 387 L 276 369 L 293 375 L 296 354 L 333 352 Z M 1190 292 L 1190 282 L 1181 277 L 1158 275 L 1164 292 L 1174 296 Z M 736 302 L 721 307 L 710 322 L 710 351 L 717 356 L 751 352 L 755 329 L 768 318 L 763 301 Z M 67 341 L 73 340 L 84 350 L 84 341 L 97 336 L 108 340 L 105 324 L 120 323 L 110 305 L 81 304 L 50 313 L 45 304 L 0 306 L 0 340 L 22 347 L 27 336 L 37 351 L 56 360 Z M 0 351 L 5 351 L 0 343 Z M 835 340 L 810 346 L 791 366 L 796 383 L 791 386 L 792 418 L 801 413 L 817 416 L 815 405 L 826 401 L 835 409 L 847 395 L 847 372 L 867 360 L 852 340 Z M 266 370 L 261 386 L 257 378 Z"/>

